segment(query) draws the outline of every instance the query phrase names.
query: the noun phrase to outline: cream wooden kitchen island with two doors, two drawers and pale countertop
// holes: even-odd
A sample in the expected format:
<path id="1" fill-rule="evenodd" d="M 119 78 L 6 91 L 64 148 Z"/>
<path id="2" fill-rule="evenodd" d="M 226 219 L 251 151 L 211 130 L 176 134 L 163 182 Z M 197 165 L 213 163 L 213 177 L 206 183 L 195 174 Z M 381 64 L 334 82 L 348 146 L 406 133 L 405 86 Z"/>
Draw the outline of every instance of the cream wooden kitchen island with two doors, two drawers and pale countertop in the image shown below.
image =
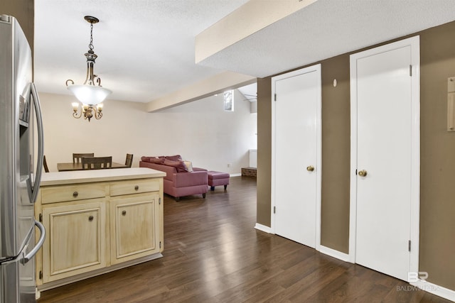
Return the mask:
<path id="1" fill-rule="evenodd" d="M 164 175 L 144 167 L 44 173 L 35 214 L 48 236 L 36 258 L 37 296 L 161 258 Z"/>

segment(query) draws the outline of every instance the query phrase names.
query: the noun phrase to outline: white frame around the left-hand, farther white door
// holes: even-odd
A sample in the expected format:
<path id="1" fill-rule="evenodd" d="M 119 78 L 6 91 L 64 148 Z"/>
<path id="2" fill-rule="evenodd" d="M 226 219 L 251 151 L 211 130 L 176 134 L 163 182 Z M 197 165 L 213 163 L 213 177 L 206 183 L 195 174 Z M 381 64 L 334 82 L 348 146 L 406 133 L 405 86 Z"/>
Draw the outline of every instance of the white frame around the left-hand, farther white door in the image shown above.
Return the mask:
<path id="1" fill-rule="evenodd" d="M 299 70 L 294 70 L 292 72 L 287 72 L 282 75 L 278 75 L 275 77 L 272 77 L 272 186 L 271 186 L 271 204 L 270 204 L 270 231 L 271 233 L 275 233 L 275 216 L 274 216 L 274 206 L 276 205 L 276 191 L 275 191 L 275 184 L 276 184 L 276 176 L 275 176 L 275 165 L 276 165 L 276 103 L 275 103 L 275 82 L 277 80 L 282 80 L 290 77 L 295 77 L 297 75 L 302 75 L 302 74 L 307 74 L 309 72 L 316 72 L 318 75 L 318 83 L 317 86 L 319 87 L 319 93 L 317 94 L 317 104 L 316 104 L 316 242 L 315 242 L 315 248 L 316 250 L 320 250 L 321 248 L 321 173 L 322 173 L 322 114 L 321 114 L 321 109 L 322 109 L 322 80 L 321 80 L 321 64 L 317 65 L 312 65 L 310 67 L 304 67 Z M 304 170 L 304 167 L 301 167 L 302 170 Z"/>

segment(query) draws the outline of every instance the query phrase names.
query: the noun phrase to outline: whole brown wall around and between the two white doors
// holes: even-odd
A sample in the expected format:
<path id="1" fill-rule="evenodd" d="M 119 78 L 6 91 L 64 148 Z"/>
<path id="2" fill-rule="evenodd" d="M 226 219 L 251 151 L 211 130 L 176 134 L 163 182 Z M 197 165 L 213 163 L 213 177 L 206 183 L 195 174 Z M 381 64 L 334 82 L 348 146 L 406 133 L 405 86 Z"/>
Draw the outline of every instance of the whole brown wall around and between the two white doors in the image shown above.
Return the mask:
<path id="1" fill-rule="evenodd" d="M 447 78 L 455 76 L 454 33 L 455 22 L 416 33 L 421 50 L 419 270 L 428 272 L 428 282 L 450 290 L 455 290 L 455 133 L 446 131 L 446 93 Z M 348 253 L 349 54 L 316 63 L 322 65 L 323 82 L 321 244 Z M 269 87 L 270 77 L 258 81 L 257 221 L 265 226 L 270 226 Z M 259 193 L 264 193 L 260 201 Z"/>

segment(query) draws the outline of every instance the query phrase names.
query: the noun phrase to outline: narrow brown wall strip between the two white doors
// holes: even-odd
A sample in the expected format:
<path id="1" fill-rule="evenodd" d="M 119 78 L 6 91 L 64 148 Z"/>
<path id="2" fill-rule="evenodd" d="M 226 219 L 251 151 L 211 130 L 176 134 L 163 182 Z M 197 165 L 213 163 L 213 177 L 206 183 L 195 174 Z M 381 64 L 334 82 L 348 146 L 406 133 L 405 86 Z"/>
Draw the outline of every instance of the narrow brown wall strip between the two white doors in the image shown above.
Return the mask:
<path id="1" fill-rule="evenodd" d="M 349 57 L 322 67 L 321 245 L 348 253 L 350 172 Z M 333 87 L 333 79 L 337 80 Z"/>

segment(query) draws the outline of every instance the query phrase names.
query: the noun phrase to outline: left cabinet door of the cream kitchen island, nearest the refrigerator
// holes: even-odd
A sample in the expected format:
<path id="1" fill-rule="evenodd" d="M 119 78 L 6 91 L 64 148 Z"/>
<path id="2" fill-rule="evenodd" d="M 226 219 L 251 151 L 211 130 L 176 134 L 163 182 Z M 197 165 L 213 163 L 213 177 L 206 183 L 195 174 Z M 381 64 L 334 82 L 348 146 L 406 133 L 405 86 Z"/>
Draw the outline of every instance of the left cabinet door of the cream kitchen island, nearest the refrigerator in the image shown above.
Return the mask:
<path id="1" fill-rule="evenodd" d="M 43 282 L 59 280 L 106 266 L 105 200 L 48 204 L 43 224 Z"/>

